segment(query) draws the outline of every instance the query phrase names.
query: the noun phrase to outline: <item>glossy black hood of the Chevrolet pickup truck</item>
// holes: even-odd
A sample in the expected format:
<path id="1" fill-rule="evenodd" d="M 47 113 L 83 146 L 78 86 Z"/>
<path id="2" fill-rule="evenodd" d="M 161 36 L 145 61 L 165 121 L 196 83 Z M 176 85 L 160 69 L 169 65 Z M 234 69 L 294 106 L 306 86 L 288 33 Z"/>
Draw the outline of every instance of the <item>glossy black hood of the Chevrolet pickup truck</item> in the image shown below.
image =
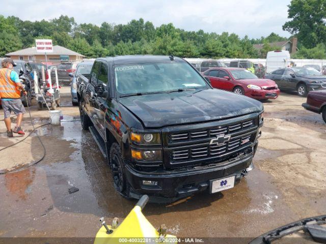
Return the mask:
<path id="1" fill-rule="evenodd" d="M 218 89 L 132 96 L 119 102 L 146 128 L 204 122 L 263 110 L 259 101 Z"/>

